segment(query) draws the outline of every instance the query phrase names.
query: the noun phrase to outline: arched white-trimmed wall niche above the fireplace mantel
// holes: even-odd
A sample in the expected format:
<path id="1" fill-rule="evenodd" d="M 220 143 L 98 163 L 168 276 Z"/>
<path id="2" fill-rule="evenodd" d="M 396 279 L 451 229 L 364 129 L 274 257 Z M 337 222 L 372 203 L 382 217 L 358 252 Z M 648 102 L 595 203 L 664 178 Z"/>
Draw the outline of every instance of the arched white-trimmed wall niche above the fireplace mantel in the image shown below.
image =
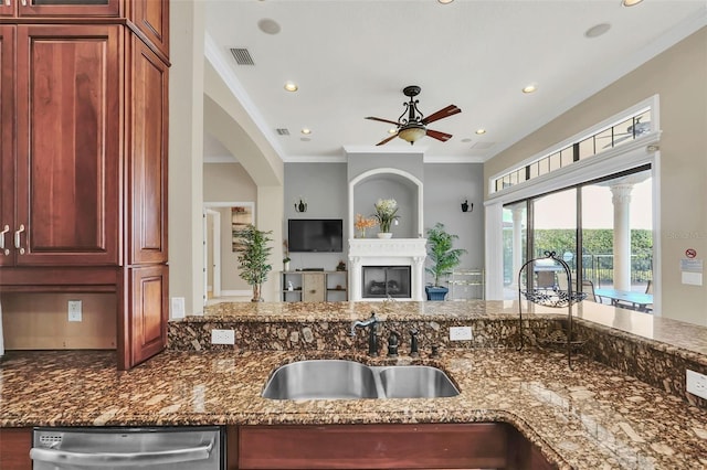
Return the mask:
<path id="1" fill-rule="evenodd" d="M 400 221 L 392 228 L 394 238 L 422 237 L 424 229 L 422 181 L 404 170 L 377 168 L 365 171 L 349 181 L 349 239 L 355 236 L 356 214 L 371 216 L 374 212 L 373 204 L 379 199 L 394 199 L 398 202 Z"/>

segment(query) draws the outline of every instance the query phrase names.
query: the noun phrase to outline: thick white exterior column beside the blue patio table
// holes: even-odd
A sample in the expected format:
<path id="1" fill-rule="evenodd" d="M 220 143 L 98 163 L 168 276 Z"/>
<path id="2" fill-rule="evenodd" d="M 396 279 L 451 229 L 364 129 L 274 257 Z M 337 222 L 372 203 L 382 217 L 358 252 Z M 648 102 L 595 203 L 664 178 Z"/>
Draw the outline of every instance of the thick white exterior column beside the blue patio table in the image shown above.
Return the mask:
<path id="1" fill-rule="evenodd" d="M 611 188 L 614 205 L 614 288 L 631 290 L 631 191 L 633 184 Z"/>

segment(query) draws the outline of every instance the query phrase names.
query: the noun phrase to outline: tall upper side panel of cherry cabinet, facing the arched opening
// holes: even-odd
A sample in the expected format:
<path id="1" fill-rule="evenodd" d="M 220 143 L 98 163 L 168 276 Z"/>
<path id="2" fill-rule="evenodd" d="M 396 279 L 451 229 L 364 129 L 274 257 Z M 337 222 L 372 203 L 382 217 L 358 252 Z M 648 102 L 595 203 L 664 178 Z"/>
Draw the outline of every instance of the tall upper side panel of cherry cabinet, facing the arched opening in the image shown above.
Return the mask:
<path id="1" fill-rule="evenodd" d="M 131 194 L 128 264 L 167 261 L 168 68 L 137 38 L 131 40 L 131 96 L 127 103 L 131 138 L 128 193 Z"/>

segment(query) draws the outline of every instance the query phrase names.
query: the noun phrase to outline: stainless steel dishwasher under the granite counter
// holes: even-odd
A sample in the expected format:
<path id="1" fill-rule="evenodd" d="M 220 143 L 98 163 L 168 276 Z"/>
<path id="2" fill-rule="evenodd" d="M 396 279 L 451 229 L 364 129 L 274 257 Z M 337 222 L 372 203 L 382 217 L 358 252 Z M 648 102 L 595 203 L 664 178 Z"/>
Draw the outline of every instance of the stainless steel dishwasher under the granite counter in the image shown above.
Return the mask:
<path id="1" fill-rule="evenodd" d="M 34 470 L 222 470 L 218 426 L 34 428 Z"/>

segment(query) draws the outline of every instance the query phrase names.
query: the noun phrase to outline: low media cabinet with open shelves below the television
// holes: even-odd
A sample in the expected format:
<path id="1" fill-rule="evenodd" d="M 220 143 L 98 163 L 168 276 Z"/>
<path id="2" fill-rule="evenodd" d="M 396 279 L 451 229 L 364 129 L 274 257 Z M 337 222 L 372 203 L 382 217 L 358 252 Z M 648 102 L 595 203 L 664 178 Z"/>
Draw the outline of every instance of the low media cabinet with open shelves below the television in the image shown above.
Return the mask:
<path id="1" fill-rule="evenodd" d="M 284 271 L 283 301 L 348 300 L 347 286 L 347 271 Z"/>

